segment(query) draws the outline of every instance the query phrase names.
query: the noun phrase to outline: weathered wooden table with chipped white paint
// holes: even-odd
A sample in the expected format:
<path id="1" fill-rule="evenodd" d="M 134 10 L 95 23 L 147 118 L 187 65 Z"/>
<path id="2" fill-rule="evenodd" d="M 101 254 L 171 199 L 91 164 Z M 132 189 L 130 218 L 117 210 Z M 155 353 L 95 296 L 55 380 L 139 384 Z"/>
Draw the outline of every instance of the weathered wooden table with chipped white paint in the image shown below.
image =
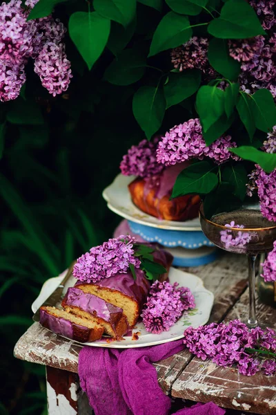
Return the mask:
<path id="1" fill-rule="evenodd" d="M 224 254 L 197 268 L 185 268 L 204 280 L 215 294 L 210 322 L 239 318 L 248 313 L 247 262 L 243 255 Z M 257 317 L 274 324 L 276 310 L 257 303 Z M 14 347 L 16 358 L 46 365 L 49 414 L 91 414 L 78 384 L 80 346 L 34 323 Z M 276 377 L 242 376 L 237 369 L 217 367 L 193 357 L 187 349 L 155 364 L 159 385 L 166 394 L 256 414 L 276 414 Z"/>

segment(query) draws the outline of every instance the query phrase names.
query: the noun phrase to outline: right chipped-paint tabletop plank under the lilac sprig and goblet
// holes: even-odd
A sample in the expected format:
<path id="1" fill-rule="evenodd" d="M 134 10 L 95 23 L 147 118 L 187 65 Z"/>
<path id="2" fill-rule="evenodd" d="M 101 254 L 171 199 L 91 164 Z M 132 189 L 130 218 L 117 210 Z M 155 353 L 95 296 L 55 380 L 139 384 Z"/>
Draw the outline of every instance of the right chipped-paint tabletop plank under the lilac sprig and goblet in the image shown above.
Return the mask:
<path id="1" fill-rule="evenodd" d="M 225 322 L 248 317 L 248 290 L 242 295 Z M 257 302 L 257 318 L 276 328 L 276 310 Z M 250 411 L 256 414 L 276 414 L 276 377 L 257 373 L 243 376 L 237 369 L 218 367 L 210 360 L 203 362 L 198 358 L 188 364 L 186 369 L 172 385 L 172 396 L 214 402 L 219 406 Z"/>

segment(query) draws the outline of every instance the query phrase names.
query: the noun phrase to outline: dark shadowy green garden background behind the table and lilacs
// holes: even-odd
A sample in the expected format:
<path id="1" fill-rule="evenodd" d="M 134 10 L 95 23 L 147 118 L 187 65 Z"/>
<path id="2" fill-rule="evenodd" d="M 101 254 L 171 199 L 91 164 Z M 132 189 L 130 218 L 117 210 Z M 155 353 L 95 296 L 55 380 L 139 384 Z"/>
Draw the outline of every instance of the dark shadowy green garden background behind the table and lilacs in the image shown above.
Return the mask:
<path id="1" fill-rule="evenodd" d="M 64 24 L 73 3 L 56 10 Z M 85 1 L 82 6 L 87 10 Z M 137 11 L 137 38 L 143 39 L 155 29 L 158 12 L 141 4 Z M 32 324 L 30 306 L 43 282 L 112 237 L 120 218 L 101 192 L 119 173 L 122 155 L 144 138 L 132 114 L 137 87 L 102 80 L 112 53 L 106 50 L 88 71 L 68 36 L 66 51 L 74 73 L 68 93 L 52 98 L 30 63 L 21 98 L 0 105 L 1 121 L 6 119 L 0 160 L 1 414 L 46 415 L 45 368 L 14 359 L 14 344 Z M 154 75 L 149 69 L 149 82 Z M 167 112 L 164 129 L 187 117 L 181 107 Z"/>

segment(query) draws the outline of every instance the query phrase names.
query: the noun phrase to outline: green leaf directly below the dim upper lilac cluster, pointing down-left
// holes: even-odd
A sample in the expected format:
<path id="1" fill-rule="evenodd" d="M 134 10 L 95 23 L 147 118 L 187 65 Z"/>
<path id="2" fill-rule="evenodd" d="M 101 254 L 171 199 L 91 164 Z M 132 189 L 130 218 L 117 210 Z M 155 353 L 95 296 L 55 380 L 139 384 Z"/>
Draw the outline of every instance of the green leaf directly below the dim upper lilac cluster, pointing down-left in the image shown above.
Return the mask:
<path id="1" fill-rule="evenodd" d="M 195 69 L 179 73 L 170 73 L 164 86 L 167 108 L 193 95 L 199 88 L 201 71 Z"/>

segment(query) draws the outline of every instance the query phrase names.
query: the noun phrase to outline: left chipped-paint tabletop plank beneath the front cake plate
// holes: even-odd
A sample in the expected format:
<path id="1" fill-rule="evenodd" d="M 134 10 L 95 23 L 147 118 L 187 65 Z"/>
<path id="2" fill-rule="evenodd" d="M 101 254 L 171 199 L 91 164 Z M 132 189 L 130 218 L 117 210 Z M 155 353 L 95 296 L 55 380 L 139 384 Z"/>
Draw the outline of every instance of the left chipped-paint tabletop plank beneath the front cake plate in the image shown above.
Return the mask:
<path id="1" fill-rule="evenodd" d="M 215 303 L 210 321 L 220 321 L 232 308 L 246 287 L 246 261 L 243 255 L 224 254 L 211 264 L 195 268 L 184 268 L 204 280 L 204 285 L 215 294 Z M 29 362 L 40 363 L 77 373 L 81 346 L 61 338 L 44 329 L 39 323 L 32 324 L 19 339 L 14 356 Z M 188 365 L 193 356 L 181 351 L 175 356 L 155 364 L 159 385 L 170 393 L 173 382 Z"/>

